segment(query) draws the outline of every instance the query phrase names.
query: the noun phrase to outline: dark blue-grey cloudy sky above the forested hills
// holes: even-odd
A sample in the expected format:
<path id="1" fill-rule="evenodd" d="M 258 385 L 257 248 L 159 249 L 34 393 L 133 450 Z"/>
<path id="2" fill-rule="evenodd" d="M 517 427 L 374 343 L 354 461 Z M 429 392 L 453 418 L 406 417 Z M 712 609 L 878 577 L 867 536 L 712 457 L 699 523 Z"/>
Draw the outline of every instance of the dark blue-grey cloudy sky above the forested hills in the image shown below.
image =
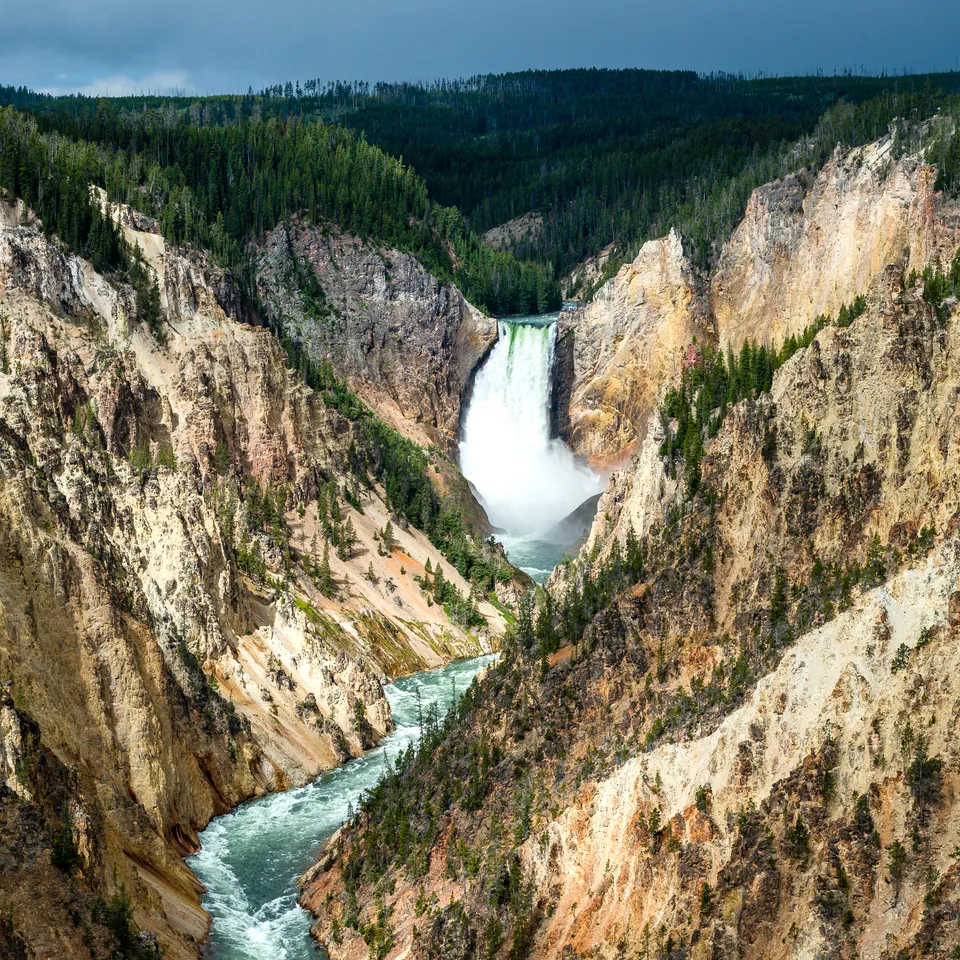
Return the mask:
<path id="1" fill-rule="evenodd" d="M 528 67 L 960 66 L 960 0 L 3 0 L 0 84 L 246 91 Z"/>

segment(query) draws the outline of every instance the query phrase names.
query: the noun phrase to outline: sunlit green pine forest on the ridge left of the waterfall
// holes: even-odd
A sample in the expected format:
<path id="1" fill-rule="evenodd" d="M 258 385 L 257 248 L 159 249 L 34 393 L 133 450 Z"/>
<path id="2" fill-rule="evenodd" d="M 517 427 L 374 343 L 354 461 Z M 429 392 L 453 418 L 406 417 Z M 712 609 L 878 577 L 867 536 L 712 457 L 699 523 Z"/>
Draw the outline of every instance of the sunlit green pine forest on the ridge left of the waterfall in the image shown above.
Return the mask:
<path id="1" fill-rule="evenodd" d="M 322 121 L 203 126 L 162 108 L 126 115 L 110 102 L 75 119 L 59 109 L 37 116 L 0 110 L 0 188 L 98 267 L 120 266 L 122 251 L 88 184 L 156 216 L 172 243 L 210 250 L 248 291 L 247 242 L 302 214 L 413 253 L 482 309 L 530 313 L 560 305 L 548 266 L 483 244 L 455 208 L 430 199 L 410 167 Z"/>

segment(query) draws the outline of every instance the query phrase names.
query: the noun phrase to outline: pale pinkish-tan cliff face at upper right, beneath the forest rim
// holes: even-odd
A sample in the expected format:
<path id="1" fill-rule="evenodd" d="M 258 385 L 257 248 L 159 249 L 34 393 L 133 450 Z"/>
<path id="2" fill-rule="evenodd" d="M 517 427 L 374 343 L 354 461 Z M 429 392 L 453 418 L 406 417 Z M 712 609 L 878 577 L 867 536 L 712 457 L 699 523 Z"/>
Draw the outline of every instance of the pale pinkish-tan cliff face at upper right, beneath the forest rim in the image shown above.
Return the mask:
<path id="1" fill-rule="evenodd" d="M 712 280 L 722 343 L 777 343 L 820 314 L 836 316 L 890 263 L 949 262 L 957 205 L 934 192 L 933 168 L 898 157 L 896 146 L 885 137 L 838 148 L 816 176 L 801 171 L 754 191 Z"/>

